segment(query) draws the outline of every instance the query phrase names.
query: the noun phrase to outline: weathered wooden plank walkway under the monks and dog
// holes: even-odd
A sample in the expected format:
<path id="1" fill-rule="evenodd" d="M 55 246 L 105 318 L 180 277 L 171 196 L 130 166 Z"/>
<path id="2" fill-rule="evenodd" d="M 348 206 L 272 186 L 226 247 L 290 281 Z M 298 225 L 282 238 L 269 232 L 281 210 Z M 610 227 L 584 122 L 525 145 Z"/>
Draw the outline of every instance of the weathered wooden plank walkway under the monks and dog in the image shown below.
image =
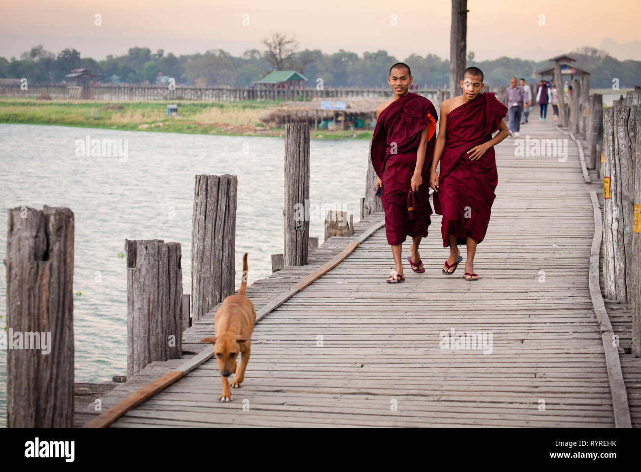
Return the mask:
<path id="1" fill-rule="evenodd" d="M 567 139 L 535 118 L 522 137 Z M 406 268 L 404 283 L 386 284 L 393 265 L 380 229 L 256 325 L 233 402 L 218 401 L 211 359 L 112 426 L 614 426 L 588 290 L 594 184 L 585 183 L 571 140 L 567 162 L 515 157 L 514 149 L 509 137 L 497 146 L 499 186 L 478 282 L 463 279 L 462 267 L 441 274 L 447 250 L 435 215 L 421 250 L 427 271 Z M 356 233 L 382 218 L 370 215 Z M 310 267 L 252 284 L 256 311 L 349 240 L 331 238 Z M 441 333 L 452 329 L 491 333 L 492 352 L 441 349 Z M 212 331 L 205 317 L 185 333 L 185 348 L 203 349 L 196 341 Z M 188 357 L 149 365 L 105 396 L 103 410 Z M 78 411 L 77 424 L 92 415 Z"/>

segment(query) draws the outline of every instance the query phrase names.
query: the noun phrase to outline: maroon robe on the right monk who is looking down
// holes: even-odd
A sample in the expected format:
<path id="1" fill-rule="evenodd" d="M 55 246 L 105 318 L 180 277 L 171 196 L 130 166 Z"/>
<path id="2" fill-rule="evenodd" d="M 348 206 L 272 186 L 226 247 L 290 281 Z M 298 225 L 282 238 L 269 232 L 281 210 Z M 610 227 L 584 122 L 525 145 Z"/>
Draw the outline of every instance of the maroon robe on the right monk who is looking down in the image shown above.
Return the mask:
<path id="1" fill-rule="evenodd" d="M 494 146 L 477 161 L 470 160 L 467 152 L 490 141 L 507 112 L 505 105 L 487 92 L 447 116 L 438 192 L 433 196 L 435 211 L 443 215 L 443 247 L 449 246 L 451 234 L 458 244 L 465 244 L 467 236 L 477 243 L 485 238 L 498 183 Z"/>

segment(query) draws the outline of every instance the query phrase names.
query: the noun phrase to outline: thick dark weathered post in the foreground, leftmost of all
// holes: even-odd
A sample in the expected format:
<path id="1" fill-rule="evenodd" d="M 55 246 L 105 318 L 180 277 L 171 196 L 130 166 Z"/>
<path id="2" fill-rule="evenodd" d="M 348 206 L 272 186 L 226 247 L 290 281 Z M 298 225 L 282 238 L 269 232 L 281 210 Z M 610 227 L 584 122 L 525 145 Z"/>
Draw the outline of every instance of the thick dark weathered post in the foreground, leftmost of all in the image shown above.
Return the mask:
<path id="1" fill-rule="evenodd" d="M 74 426 L 74 214 L 8 211 L 7 425 Z"/>

